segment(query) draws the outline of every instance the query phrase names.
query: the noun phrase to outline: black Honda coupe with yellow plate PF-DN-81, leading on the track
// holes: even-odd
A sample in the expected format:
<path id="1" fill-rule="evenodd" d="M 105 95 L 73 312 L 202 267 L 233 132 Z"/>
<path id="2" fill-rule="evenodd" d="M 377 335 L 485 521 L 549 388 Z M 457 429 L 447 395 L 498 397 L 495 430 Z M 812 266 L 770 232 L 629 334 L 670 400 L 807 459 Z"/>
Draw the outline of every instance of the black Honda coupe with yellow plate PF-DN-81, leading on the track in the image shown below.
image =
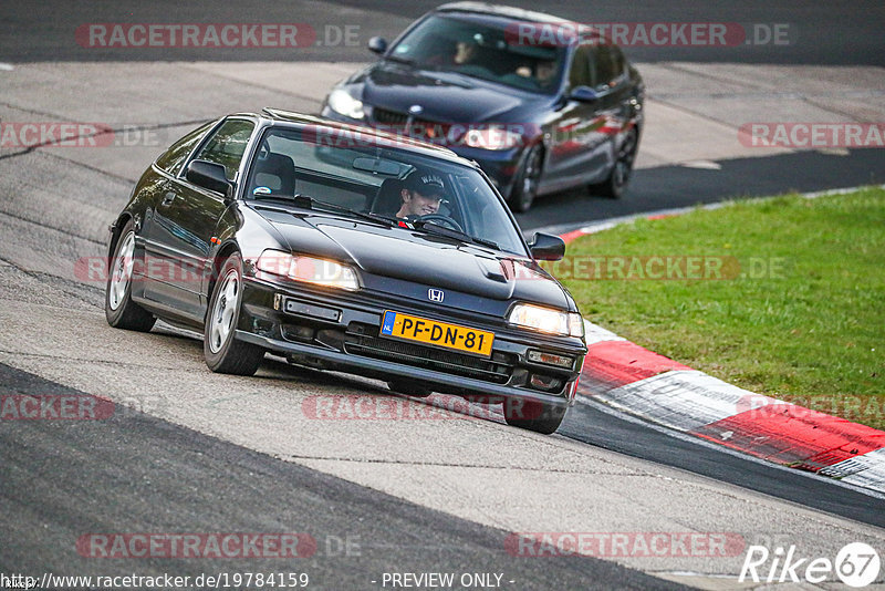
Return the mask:
<path id="1" fill-rule="evenodd" d="M 208 123 L 142 175 L 111 226 L 105 312 L 204 333 L 210 370 L 266 352 L 425 396 L 503 403 L 553 433 L 586 353 L 575 302 L 475 163 L 364 127 L 266 110 Z"/>

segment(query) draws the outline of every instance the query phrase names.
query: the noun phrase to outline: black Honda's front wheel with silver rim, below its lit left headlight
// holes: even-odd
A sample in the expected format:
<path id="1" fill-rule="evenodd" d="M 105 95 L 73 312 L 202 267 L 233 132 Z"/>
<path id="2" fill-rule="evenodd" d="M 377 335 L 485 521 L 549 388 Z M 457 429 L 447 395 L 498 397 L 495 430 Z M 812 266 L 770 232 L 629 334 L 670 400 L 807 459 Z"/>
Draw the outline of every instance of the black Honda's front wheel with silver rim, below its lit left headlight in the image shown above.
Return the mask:
<path id="1" fill-rule="evenodd" d="M 235 252 L 221 266 L 209 300 L 202 338 L 206 365 L 216 373 L 252 375 L 264 350 L 235 339 L 242 307 L 242 258 Z"/>

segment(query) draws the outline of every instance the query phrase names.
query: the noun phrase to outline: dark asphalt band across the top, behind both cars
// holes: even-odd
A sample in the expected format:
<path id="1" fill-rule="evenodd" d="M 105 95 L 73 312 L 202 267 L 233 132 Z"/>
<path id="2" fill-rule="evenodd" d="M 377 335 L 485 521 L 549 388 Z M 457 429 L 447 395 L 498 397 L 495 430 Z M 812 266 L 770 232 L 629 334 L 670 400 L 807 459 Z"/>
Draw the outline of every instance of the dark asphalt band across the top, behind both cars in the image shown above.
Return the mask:
<path id="1" fill-rule="evenodd" d="M 8 61 L 92 61 L 116 60 L 118 52 L 83 49 L 70 43 L 71 31 L 92 22 L 306 22 L 320 30 L 315 48 L 306 51 L 285 49 L 263 51 L 261 59 L 271 60 L 327 60 L 356 61 L 364 59 L 365 49 L 358 46 L 323 45 L 325 24 L 360 25 L 393 40 L 406 23 L 439 6 L 435 0 L 400 2 L 398 0 L 345 0 L 340 9 L 309 0 L 292 2 L 48 2 L 39 7 L 31 2 L 8 3 L 0 20 L 0 59 Z M 740 61 L 745 63 L 796 64 L 885 64 L 882 52 L 882 30 L 885 28 L 885 9 L 876 0 L 804 2 L 798 10 L 790 0 L 751 0 L 730 2 L 715 0 L 693 2 L 671 0 L 665 2 L 631 2 L 604 0 L 594 2 L 558 2 L 543 0 L 529 2 L 514 0 L 510 6 L 546 11 L 563 19 L 587 23 L 612 22 L 715 22 L 739 23 L 747 30 L 754 24 L 787 25 L 785 43 L 749 43 L 740 46 L 635 46 L 627 51 L 635 61 Z M 348 9 L 368 11 L 348 12 Z M 764 35 L 759 34 L 763 41 Z M 752 41 L 752 39 L 750 39 Z M 239 50 L 220 50 L 206 56 L 205 52 L 183 50 L 176 52 L 180 60 L 253 60 L 256 53 Z M 123 54 L 133 61 L 166 60 L 164 50 L 132 50 Z"/>

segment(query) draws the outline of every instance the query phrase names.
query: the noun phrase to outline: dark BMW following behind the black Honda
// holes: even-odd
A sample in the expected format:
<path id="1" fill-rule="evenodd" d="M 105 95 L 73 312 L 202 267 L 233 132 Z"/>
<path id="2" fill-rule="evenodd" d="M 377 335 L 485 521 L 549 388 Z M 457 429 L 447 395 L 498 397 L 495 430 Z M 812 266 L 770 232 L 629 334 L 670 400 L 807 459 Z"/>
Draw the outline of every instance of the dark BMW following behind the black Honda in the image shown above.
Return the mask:
<path id="1" fill-rule="evenodd" d="M 339 83 L 323 115 L 450 147 L 525 211 L 535 196 L 626 190 L 645 84 L 600 31 L 518 8 L 444 4 Z"/>

